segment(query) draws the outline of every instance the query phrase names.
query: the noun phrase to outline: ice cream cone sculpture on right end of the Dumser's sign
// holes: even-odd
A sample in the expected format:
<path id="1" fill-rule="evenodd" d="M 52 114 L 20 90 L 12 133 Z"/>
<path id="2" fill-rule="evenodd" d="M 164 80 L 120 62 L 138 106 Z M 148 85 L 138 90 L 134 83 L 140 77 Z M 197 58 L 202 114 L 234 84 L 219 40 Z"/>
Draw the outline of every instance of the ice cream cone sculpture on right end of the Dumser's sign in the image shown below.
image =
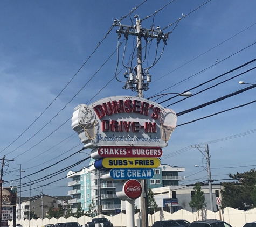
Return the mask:
<path id="1" fill-rule="evenodd" d="M 164 109 L 160 117 L 161 139 L 165 142 L 171 137 L 177 123 L 176 113 L 171 109 Z"/>

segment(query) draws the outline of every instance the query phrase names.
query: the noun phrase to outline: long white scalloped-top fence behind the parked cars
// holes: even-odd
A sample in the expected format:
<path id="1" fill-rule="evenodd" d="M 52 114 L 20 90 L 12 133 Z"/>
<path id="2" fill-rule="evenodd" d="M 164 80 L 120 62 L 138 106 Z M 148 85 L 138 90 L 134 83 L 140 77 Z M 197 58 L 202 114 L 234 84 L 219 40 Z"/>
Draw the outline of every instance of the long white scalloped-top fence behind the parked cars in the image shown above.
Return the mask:
<path id="1" fill-rule="evenodd" d="M 125 214 L 119 214 L 113 217 L 102 215 L 102 217 L 106 217 L 107 219 L 109 219 L 115 227 L 126 226 Z M 134 217 L 135 217 L 135 226 L 136 226 L 137 225 L 136 220 L 139 218 L 138 214 L 136 214 Z M 192 213 L 186 210 L 179 210 L 174 214 L 170 214 L 165 211 L 158 211 L 155 214 L 148 216 L 149 226 L 151 226 L 152 223 L 154 223 L 155 221 L 168 220 L 168 219 L 186 219 L 189 222 L 193 222 L 198 220 L 198 215 L 197 215 L 197 212 Z M 202 218 L 200 217 L 199 219 L 202 219 Z M 207 210 L 207 219 L 219 219 L 219 212 L 212 212 L 210 210 Z M 46 224 L 56 224 L 56 223 L 65 223 L 65 222 L 78 222 L 80 225 L 85 226 L 86 223 L 91 222 L 91 220 L 92 220 L 91 217 L 82 216 L 80 218 L 70 217 L 68 219 L 65 219 L 63 217 L 59 219 L 56 219 L 56 218 L 52 218 L 52 219 L 45 218 L 43 220 L 32 219 L 30 223 L 28 220 L 20 220 L 20 221 L 17 220 L 16 223 L 22 224 L 23 227 L 28 227 L 28 226 L 41 227 Z M 231 224 L 232 227 L 243 227 L 243 225 L 246 222 L 256 221 L 256 208 L 244 212 L 242 210 L 237 210 L 237 209 L 227 207 L 222 211 L 222 220 Z M 9 221 L 8 224 L 12 226 L 12 223 L 13 223 L 12 221 L 11 222 Z"/>

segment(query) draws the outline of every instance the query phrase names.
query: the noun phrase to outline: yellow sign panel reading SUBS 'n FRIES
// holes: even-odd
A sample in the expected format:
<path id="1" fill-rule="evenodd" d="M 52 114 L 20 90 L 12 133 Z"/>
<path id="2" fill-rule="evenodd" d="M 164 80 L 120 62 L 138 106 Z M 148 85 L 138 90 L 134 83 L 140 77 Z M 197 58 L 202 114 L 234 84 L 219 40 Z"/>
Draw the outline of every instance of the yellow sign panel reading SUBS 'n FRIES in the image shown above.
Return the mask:
<path id="1" fill-rule="evenodd" d="M 105 168 L 157 168 L 160 166 L 158 158 L 104 158 L 102 166 Z"/>

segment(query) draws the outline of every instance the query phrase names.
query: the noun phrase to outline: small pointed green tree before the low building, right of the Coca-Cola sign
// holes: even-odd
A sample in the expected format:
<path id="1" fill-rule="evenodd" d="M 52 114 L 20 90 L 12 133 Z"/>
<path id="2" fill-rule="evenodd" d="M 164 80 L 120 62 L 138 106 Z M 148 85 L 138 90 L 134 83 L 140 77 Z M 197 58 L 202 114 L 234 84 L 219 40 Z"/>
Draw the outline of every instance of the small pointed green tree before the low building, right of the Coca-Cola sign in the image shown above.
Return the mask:
<path id="1" fill-rule="evenodd" d="M 193 194 L 191 201 L 189 202 L 189 206 L 196 210 L 199 217 L 199 211 L 201 210 L 203 212 L 203 209 L 206 207 L 205 195 L 199 182 L 195 184 L 193 189 L 195 190 L 195 194 Z"/>

